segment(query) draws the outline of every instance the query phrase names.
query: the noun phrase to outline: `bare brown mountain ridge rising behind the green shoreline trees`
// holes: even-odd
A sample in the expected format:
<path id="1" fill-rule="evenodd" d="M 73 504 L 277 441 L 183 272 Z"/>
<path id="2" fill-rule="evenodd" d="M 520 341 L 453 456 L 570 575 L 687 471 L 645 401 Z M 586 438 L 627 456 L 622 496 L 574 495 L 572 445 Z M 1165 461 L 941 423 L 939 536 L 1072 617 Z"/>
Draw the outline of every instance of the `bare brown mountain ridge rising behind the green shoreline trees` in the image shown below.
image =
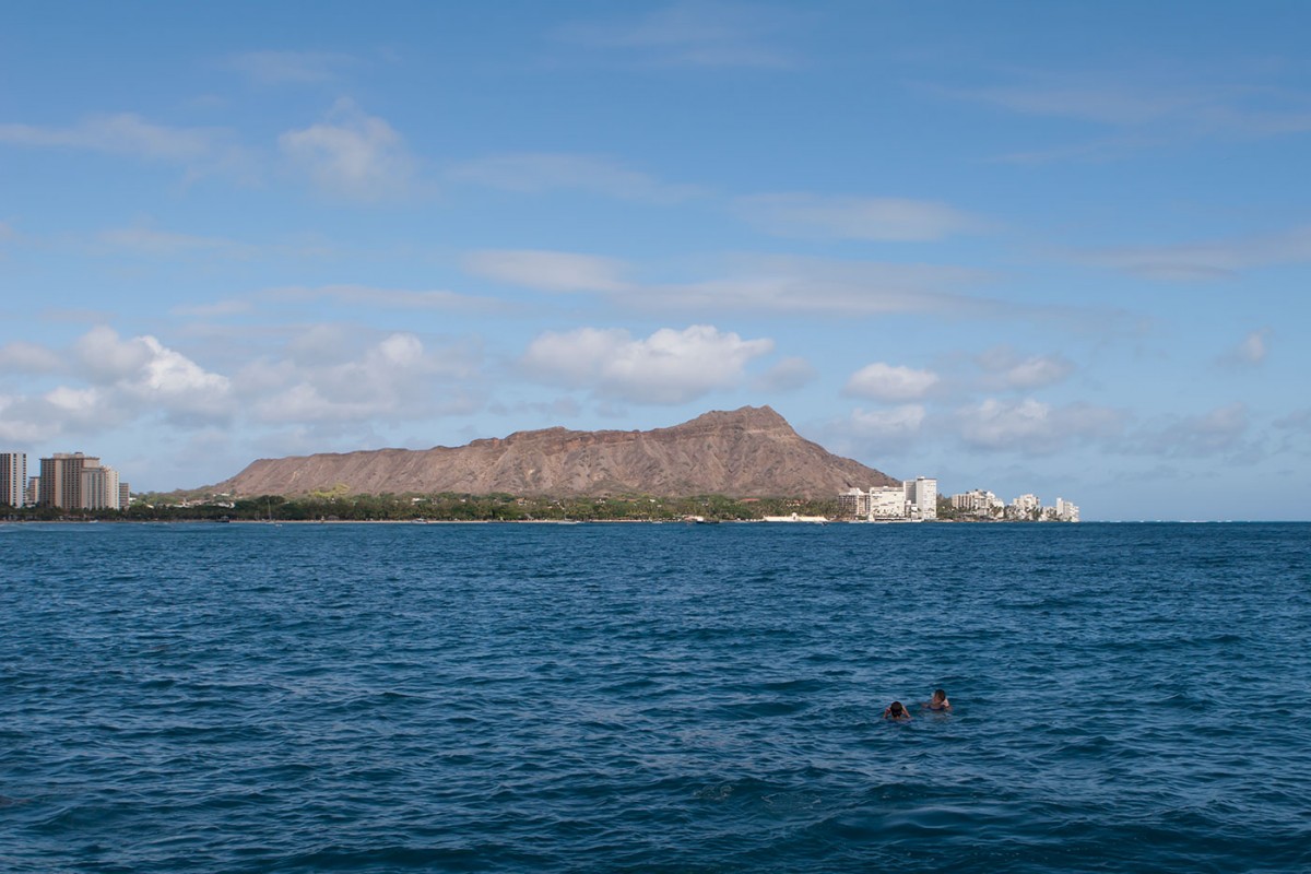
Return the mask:
<path id="1" fill-rule="evenodd" d="M 519 431 L 456 448 L 261 459 L 207 490 L 236 495 L 351 493 L 650 494 L 821 498 L 894 485 L 802 439 L 768 406 L 713 411 L 652 431 Z"/>

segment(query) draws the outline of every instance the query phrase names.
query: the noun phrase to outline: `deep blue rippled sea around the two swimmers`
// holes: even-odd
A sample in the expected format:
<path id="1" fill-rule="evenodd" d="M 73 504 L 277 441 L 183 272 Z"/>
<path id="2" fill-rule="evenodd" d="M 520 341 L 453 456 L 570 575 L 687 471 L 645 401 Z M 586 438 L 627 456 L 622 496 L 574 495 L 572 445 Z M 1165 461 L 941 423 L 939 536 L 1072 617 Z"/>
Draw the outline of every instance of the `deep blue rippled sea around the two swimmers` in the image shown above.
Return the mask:
<path id="1" fill-rule="evenodd" d="M 3 871 L 888 866 L 1311 870 L 1311 525 L 0 525 Z"/>

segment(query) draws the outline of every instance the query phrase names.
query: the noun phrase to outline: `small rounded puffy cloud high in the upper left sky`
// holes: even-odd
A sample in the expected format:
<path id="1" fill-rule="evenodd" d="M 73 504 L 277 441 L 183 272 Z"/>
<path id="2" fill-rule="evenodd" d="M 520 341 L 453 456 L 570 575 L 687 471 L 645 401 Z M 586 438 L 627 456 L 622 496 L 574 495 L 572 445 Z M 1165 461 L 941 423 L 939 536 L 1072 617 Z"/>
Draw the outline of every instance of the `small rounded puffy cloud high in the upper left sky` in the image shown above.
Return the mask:
<path id="1" fill-rule="evenodd" d="M 350 100 L 337 101 L 324 122 L 282 134 L 278 147 L 336 197 L 382 200 L 404 195 L 413 185 L 416 165 L 401 135 Z"/>

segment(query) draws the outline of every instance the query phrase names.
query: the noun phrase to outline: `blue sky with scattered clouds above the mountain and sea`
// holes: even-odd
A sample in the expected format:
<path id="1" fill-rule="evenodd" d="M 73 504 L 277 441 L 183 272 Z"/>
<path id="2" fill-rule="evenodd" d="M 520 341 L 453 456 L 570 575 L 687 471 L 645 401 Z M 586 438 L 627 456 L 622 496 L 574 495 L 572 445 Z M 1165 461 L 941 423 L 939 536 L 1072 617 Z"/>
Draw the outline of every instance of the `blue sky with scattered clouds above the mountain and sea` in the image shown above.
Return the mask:
<path id="1" fill-rule="evenodd" d="M 768 404 L 945 493 L 1308 519 L 1311 5 L 29 4 L 0 449 Z"/>

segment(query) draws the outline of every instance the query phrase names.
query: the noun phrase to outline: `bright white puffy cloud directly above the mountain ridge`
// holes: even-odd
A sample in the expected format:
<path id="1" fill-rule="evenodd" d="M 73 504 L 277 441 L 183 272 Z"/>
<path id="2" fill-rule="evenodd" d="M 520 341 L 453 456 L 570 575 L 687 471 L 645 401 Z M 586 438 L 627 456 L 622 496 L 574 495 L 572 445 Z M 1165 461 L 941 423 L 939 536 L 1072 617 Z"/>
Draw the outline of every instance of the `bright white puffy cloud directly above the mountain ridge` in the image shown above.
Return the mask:
<path id="1" fill-rule="evenodd" d="M 524 371 L 570 388 L 637 404 L 683 404 L 737 385 L 747 363 L 773 350 L 709 325 L 663 328 L 645 339 L 625 330 L 545 333 L 523 355 Z"/>

